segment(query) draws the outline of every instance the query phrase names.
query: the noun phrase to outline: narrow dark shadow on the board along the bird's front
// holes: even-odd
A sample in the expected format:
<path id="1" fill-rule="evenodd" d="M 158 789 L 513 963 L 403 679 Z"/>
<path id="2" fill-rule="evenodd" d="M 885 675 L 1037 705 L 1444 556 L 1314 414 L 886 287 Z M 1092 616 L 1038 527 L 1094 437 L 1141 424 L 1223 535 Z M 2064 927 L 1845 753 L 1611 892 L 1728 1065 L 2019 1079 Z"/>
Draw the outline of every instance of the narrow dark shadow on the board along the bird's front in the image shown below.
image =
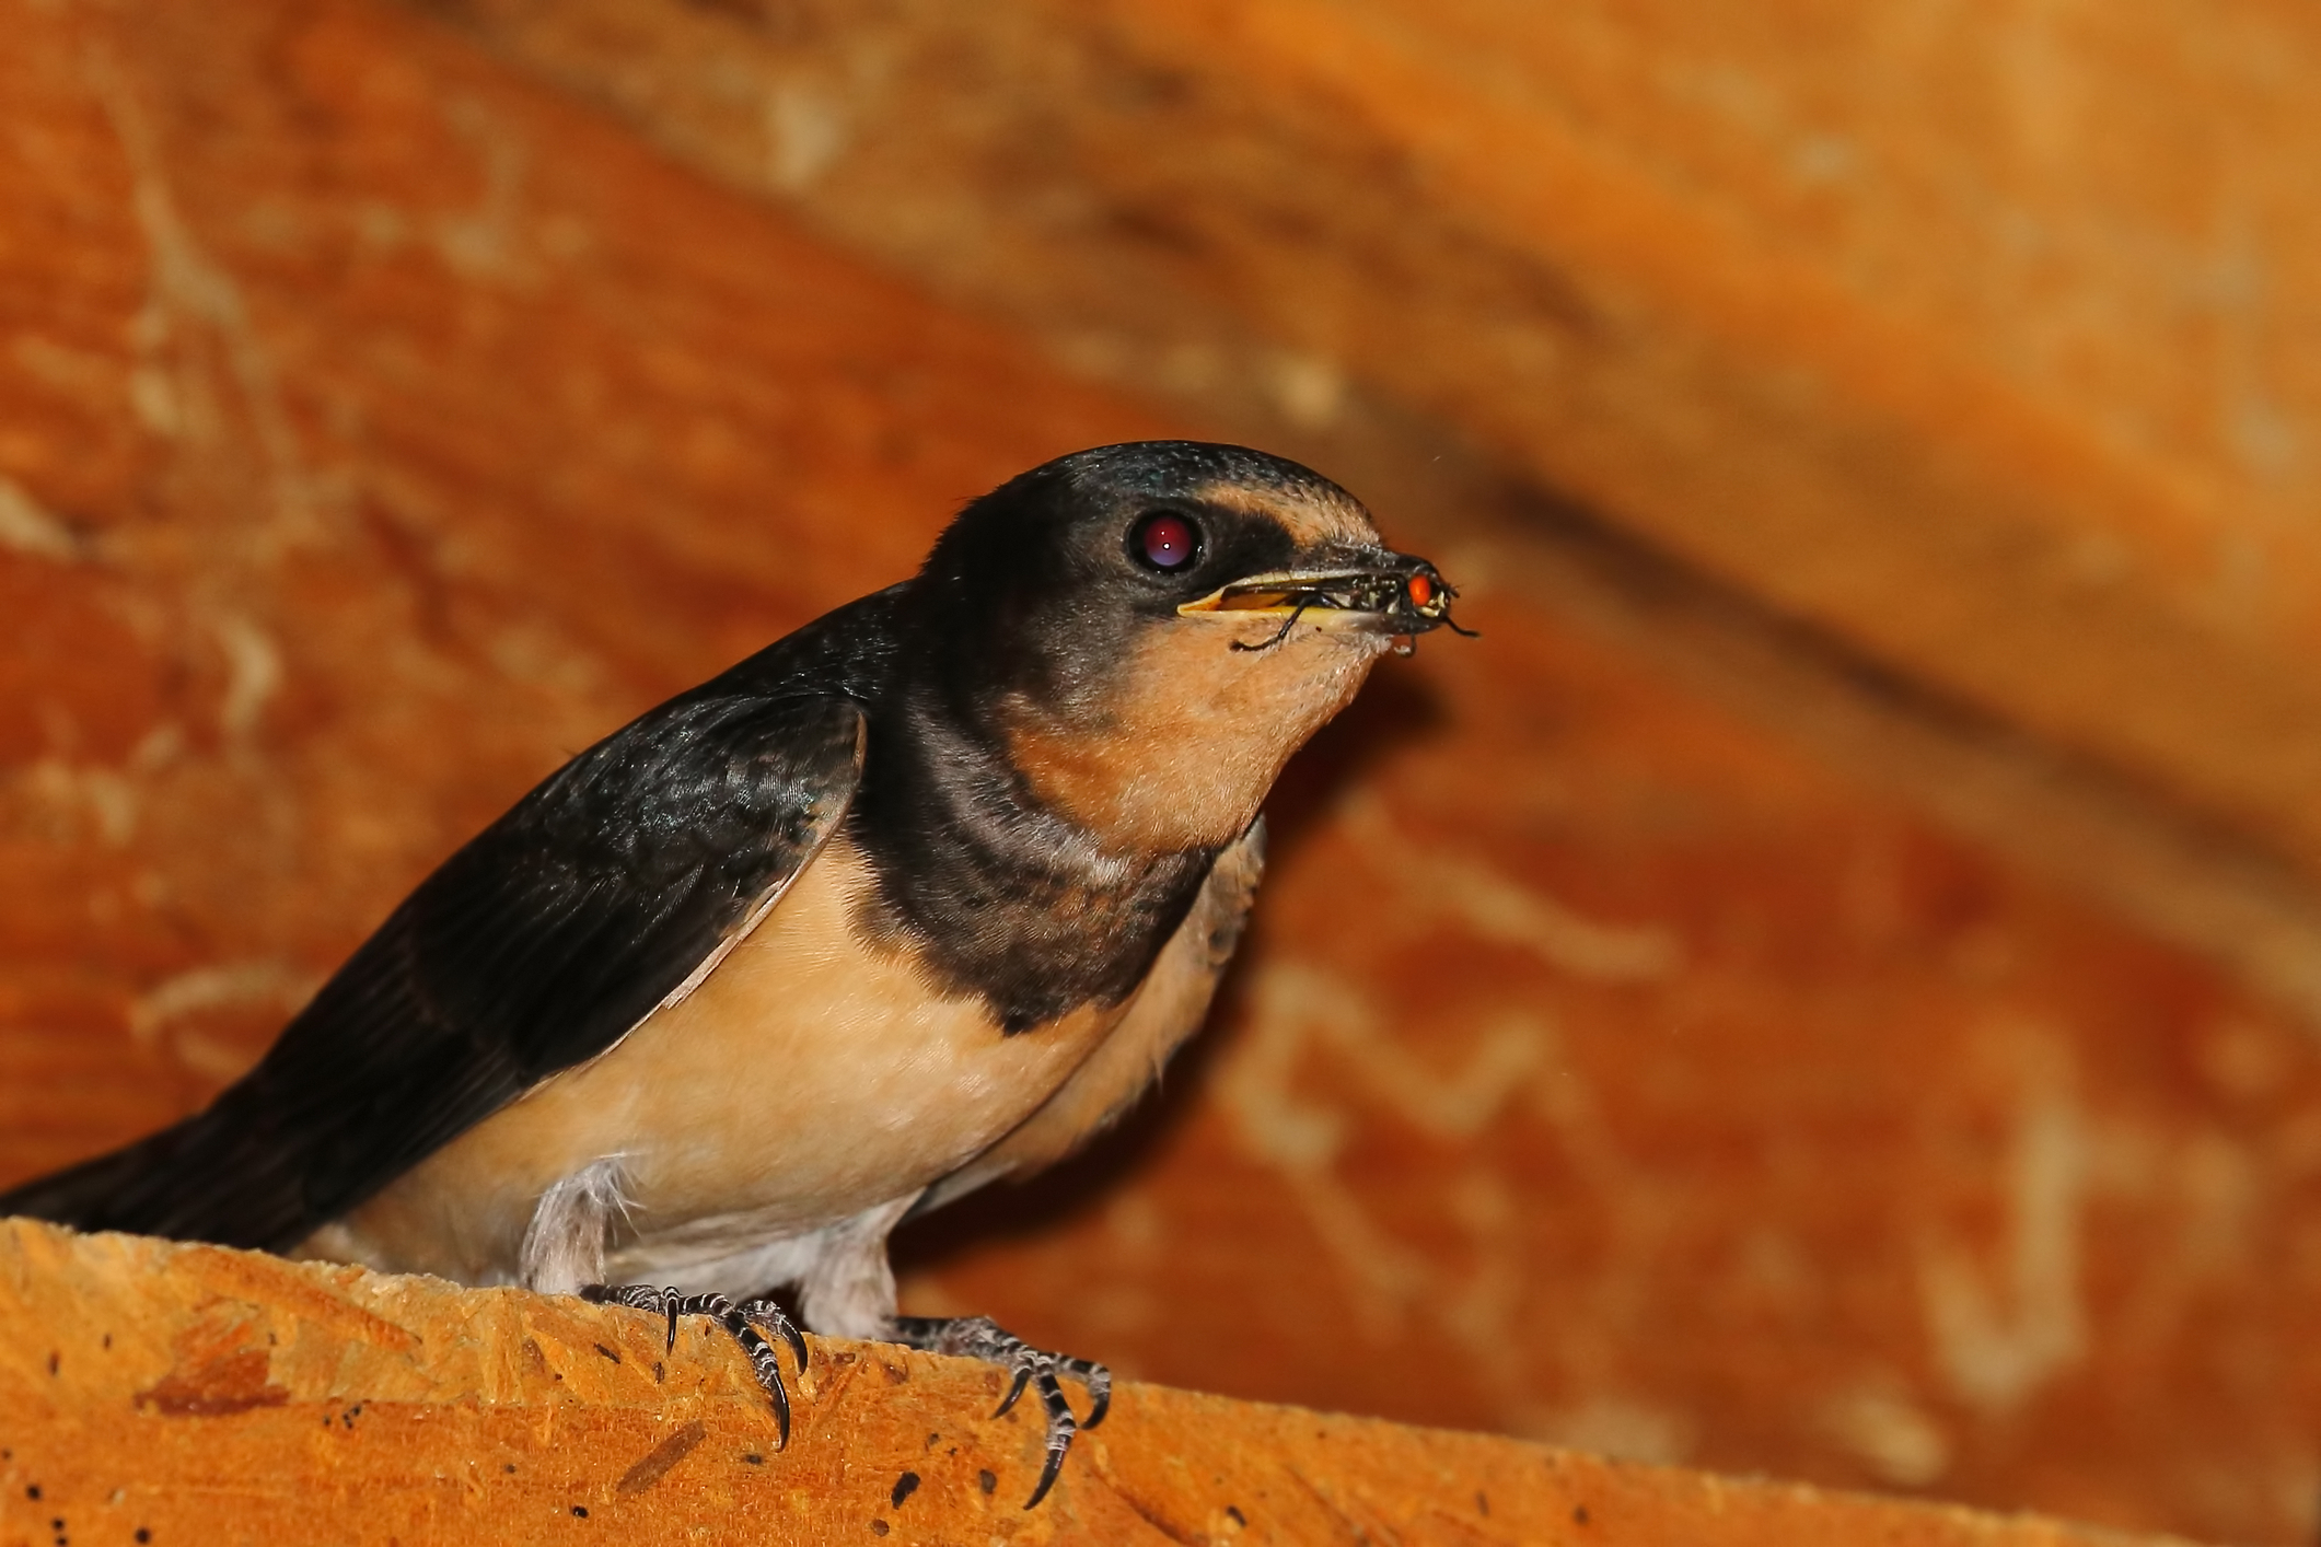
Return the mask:
<path id="1" fill-rule="evenodd" d="M 1274 784 L 1265 802 L 1270 865 L 1279 867 L 1311 842 L 1316 823 L 1337 796 L 1360 782 L 1379 758 L 1441 724 L 1444 710 L 1437 696 L 1409 673 L 1393 670 L 1393 661 L 1381 663 L 1353 705 L 1323 726 Z M 1225 969 L 1225 981 L 1219 983 L 1209 1027 L 1239 1016 L 1249 963 L 1263 949 L 1265 888 L 1260 886 L 1256 918 Z M 1079 1155 L 1024 1183 L 996 1183 L 972 1192 L 898 1229 L 891 1243 L 896 1273 L 940 1269 L 979 1241 L 1035 1236 L 1096 1208 L 1151 1162 L 1167 1136 L 1188 1120 L 1209 1085 L 1219 1046 L 1214 1030 L 1195 1034 L 1170 1060 L 1158 1088 Z"/>

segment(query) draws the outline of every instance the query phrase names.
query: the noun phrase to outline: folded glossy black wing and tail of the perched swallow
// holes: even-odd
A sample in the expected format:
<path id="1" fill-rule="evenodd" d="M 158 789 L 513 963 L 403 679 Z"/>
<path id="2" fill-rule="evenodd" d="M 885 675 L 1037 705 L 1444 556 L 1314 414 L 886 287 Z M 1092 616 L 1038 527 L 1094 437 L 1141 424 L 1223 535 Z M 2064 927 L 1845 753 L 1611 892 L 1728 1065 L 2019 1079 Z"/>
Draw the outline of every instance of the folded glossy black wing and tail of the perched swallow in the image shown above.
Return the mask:
<path id="1" fill-rule="evenodd" d="M 453 854 L 207 1111 L 0 1194 L 0 1215 L 285 1248 L 610 1048 L 854 798 L 861 705 L 736 673 L 583 751 Z"/>

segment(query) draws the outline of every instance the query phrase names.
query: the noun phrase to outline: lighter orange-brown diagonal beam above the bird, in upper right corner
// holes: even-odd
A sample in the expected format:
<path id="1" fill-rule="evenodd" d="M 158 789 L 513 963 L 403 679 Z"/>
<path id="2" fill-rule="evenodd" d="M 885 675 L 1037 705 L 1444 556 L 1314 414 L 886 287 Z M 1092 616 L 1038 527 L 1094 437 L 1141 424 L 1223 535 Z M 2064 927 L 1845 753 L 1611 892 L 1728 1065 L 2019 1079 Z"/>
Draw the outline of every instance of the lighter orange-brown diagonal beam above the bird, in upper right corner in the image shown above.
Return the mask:
<path id="1" fill-rule="evenodd" d="M 1079 369 L 1418 413 L 2321 865 L 2291 9 L 427 9 Z"/>

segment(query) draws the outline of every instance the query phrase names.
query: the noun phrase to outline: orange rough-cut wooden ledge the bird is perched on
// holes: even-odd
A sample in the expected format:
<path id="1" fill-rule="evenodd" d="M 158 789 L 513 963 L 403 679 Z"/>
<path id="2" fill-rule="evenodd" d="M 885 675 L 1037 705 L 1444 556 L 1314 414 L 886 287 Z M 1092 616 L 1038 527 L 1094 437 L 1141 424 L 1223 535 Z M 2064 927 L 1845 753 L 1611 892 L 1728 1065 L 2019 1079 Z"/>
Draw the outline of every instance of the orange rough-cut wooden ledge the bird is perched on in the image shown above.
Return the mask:
<path id="1" fill-rule="evenodd" d="M 1026 1512 L 1037 1426 L 977 1364 L 815 1341 L 778 1452 L 699 1324 L 26 1220 L 0 1320 L 7 1545 L 2126 1540 L 1149 1385 Z"/>

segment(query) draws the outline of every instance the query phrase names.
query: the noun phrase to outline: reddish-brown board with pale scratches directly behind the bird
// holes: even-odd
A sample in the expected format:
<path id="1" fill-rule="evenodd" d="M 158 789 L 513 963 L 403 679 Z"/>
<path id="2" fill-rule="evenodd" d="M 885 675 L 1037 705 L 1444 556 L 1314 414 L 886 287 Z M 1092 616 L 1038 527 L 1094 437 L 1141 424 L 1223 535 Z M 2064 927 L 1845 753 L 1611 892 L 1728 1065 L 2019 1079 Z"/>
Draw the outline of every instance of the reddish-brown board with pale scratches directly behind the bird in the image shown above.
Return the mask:
<path id="1" fill-rule="evenodd" d="M 207 1099 L 534 779 L 961 499 L 1186 427 L 406 9 L 5 14 L 7 1181 Z M 1328 399 L 1219 359 L 1184 380 L 1221 411 Z M 1945 740 L 1859 652 L 1796 670 L 1680 566 L 1453 531 L 1509 485 L 1418 499 L 1446 443 L 1346 380 L 1325 471 L 1483 640 L 1293 761 L 1212 1032 L 1049 1183 L 914 1225 L 908 1306 L 1232 1396 L 2309 1542 L 2309 1032 L 2075 888 L 2056 747 Z M 2172 842 L 2142 895 L 2186 907 Z M 2309 939 L 2268 946 L 2307 983 Z"/>

